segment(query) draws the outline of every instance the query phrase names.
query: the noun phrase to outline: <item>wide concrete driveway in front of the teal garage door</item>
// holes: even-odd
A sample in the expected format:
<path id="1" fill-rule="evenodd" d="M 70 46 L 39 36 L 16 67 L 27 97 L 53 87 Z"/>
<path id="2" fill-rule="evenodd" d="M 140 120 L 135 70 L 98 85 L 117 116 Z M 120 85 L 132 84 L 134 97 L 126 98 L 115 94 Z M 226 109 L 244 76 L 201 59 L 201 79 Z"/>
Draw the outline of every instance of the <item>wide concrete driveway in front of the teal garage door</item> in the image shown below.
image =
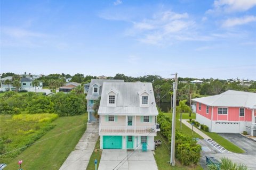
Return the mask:
<path id="1" fill-rule="evenodd" d="M 122 149 L 104 149 L 102 151 L 99 170 L 157 170 L 156 161 L 151 150 L 126 151 Z"/>

